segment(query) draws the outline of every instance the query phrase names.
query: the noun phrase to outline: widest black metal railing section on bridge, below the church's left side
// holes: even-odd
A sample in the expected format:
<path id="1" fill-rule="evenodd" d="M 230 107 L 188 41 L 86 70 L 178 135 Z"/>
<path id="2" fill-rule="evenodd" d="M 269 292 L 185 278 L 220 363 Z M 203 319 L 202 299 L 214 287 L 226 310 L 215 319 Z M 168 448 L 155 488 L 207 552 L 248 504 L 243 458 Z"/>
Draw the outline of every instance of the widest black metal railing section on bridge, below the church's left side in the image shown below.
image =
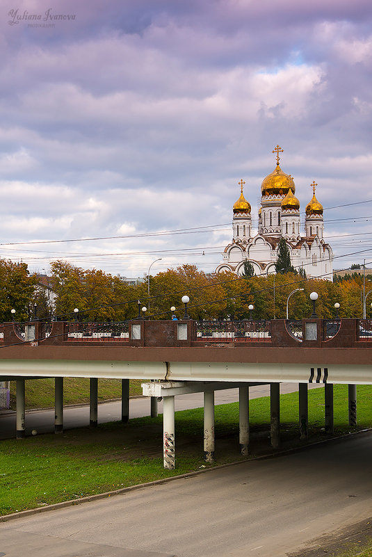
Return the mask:
<path id="1" fill-rule="evenodd" d="M 270 321 L 195 321 L 196 341 L 270 341 Z"/>

